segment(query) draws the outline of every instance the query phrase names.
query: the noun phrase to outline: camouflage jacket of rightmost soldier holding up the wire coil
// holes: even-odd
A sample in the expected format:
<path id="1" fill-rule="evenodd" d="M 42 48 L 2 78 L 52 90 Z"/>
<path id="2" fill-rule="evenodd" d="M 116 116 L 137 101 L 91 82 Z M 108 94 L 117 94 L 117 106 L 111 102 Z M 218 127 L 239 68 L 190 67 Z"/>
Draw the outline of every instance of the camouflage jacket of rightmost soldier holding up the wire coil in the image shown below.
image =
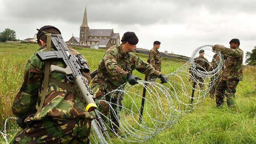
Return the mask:
<path id="1" fill-rule="evenodd" d="M 224 55 L 225 65 L 222 80 L 243 80 L 243 57 L 244 52 L 239 47 L 235 49 L 225 47 L 221 51 Z"/>

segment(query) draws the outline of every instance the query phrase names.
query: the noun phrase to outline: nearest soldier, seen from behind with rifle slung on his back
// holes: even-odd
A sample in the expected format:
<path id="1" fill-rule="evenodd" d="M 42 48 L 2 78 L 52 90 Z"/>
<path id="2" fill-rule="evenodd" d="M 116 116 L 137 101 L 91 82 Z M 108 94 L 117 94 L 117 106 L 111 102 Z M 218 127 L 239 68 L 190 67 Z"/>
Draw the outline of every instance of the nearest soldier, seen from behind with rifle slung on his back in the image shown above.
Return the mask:
<path id="1" fill-rule="evenodd" d="M 43 26 L 37 33 L 41 46 L 25 66 L 23 83 L 12 104 L 12 112 L 17 116 L 17 124 L 23 129 L 14 136 L 11 144 L 86 144 L 89 143 L 91 120 L 95 117 L 85 111 L 85 107 L 75 94 L 49 82 L 42 109 L 36 109 L 43 95 L 45 63 L 36 56 L 45 52 L 45 33 L 60 34 L 54 26 Z M 51 50 L 54 50 L 51 48 Z M 72 54 L 78 54 L 69 47 Z M 65 68 L 62 61 L 52 60 L 50 65 Z M 83 76 L 90 82 L 90 74 Z M 73 83 L 61 73 L 50 73 L 49 79 L 72 87 Z"/>

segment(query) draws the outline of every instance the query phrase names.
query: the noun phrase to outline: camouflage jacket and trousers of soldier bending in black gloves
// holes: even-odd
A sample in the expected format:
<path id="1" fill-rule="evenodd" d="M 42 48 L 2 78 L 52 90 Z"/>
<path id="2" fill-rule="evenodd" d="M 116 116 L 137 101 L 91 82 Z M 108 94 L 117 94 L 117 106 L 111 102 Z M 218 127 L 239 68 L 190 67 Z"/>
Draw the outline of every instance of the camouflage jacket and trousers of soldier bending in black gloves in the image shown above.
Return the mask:
<path id="1" fill-rule="evenodd" d="M 161 73 L 156 71 L 152 65 L 144 62 L 135 54 L 130 52 L 125 54 L 122 45 L 114 45 L 110 47 L 100 61 L 97 75 L 92 80 L 92 92 L 94 93 L 96 101 L 103 99 L 109 102 L 110 96 L 103 96 L 107 92 L 115 90 L 120 85 L 126 83 L 128 73 L 132 74 L 134 69 L 148 76 L 159 77 L 161 75 Z M 122 105 L 123 95 L 121 94 L 120 97 L 119 105 Z M 114 96 L 111 97 L 111 102 L 115 104 L 117 98 L 118 95 L 114 94 Z M 114 108 L 114 111 L 116 111 L 116 105 L 114 104 L 112 107 Z M 105 102 L 100 102 L 98 106 L 99 111 L 105 116 L 109 115 L 109 106 Z M 111 120 L 117 125 L 117 127 L 114 126 L 114 130 L 118 129 L 119 123 L 114 118 L 113 113 L 110 113 L 110 116 Z"/>

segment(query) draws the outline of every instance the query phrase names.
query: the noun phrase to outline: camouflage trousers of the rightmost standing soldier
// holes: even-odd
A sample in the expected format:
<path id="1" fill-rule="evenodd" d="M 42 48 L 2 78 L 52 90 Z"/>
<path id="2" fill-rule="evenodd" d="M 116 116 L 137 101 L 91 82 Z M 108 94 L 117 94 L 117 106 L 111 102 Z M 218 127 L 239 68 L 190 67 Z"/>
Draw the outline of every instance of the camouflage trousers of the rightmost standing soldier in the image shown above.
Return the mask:
<path id="1" fill-rule="evenodd" d="M 216 87 L 216 106 L 222 106 L 225 96 L 227 97 L 227 105 L 235 105 L 235 92 L 239 80 L 220 80 Z"/>

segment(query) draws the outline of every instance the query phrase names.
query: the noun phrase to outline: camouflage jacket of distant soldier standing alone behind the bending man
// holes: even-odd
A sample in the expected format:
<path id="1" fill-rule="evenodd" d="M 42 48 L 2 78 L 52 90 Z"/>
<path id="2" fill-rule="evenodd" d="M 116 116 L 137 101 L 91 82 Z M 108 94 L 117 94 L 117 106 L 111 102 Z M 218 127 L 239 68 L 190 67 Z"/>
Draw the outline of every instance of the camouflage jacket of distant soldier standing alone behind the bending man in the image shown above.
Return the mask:
<path id="1" fill-rule="evenodd" d="M 156 48 L 149 51 L 150 64 L 157 70 L 161 71 L 162 58 L 160 52 Z"/>

